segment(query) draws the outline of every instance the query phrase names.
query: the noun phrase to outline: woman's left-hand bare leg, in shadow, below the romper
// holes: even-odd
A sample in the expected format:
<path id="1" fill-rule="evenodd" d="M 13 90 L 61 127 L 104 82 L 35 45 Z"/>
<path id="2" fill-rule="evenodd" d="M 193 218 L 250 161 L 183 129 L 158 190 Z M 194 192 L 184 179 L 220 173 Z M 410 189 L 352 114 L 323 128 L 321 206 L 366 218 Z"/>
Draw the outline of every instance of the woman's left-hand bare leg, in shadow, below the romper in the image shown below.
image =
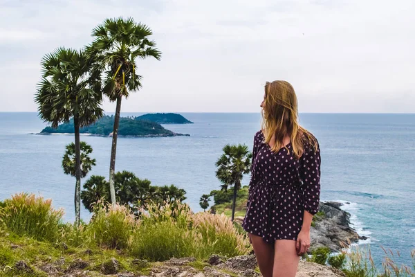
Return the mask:
<path id="1" fill-rule="evenodd" d="M 249 234 L 252 247 L 259 265 L 259 270 L 264 277 L 273 277 L 274 248 L 258 235 Z"/>

